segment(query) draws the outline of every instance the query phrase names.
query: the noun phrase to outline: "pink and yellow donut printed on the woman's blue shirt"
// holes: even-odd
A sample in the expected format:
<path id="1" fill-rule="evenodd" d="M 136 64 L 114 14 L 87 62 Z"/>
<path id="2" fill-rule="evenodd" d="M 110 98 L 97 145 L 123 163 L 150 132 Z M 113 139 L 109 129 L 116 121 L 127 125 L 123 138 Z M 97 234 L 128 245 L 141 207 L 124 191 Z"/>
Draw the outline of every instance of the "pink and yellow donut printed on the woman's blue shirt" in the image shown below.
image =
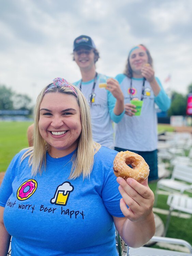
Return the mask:
<path id="1" fill-rule="evenodd" d="M 26 192 L 24 192 L 24 189 L 26 187 L 29 187 L 29 189 Z M 25 181 L 17 190 L 17 198 L 19 200 L 28 199 L 30 196 L 33 195 L 36 188 L 37 188 L 37 182 L 35 180 L 30 179 L 28 181 Z"/>

